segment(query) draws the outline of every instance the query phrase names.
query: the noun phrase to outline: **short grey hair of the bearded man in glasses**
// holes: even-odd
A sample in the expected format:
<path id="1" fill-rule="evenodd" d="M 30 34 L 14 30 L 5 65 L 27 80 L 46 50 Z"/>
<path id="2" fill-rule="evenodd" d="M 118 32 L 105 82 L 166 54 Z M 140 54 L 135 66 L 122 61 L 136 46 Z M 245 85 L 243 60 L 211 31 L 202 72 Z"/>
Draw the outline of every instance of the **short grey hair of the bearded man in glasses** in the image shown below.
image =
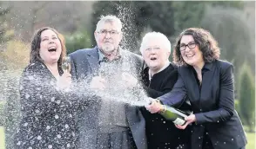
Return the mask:
<path id="1" fill-rule="evenodd" d="M 107 16 L 100 16 L 100 19 L 97 23 L 96 30 L 100 29 L 100 25 L 103 23 L 117 23 L 118 29 L 122 29 L 122 22 L 117 16 L 107 15 Z"/>

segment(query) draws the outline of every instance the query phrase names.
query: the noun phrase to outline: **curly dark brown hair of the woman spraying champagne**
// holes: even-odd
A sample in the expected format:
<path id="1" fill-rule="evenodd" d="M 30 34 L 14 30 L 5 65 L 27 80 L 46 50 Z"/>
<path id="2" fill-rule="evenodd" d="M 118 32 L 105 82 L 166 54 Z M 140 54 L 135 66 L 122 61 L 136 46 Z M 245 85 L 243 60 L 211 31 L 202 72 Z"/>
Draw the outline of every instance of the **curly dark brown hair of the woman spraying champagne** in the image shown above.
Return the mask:
<path id="1" fill-rule="evenodd" d="M 219 59 L 220 50 L 218 42 L 213 38 L 211 33 L 205 29 L 189 28 L 180 33 L 179 37 L 177 38 L 172 54 L 174 63 L 178 65 L 186 65 L 180 53 L 179 47 L 182 36 L 187 35 L 192 36 L 196 44 L 199 46 L 199 50 L 203 54 L 204 62 L 213 62 Z"/>

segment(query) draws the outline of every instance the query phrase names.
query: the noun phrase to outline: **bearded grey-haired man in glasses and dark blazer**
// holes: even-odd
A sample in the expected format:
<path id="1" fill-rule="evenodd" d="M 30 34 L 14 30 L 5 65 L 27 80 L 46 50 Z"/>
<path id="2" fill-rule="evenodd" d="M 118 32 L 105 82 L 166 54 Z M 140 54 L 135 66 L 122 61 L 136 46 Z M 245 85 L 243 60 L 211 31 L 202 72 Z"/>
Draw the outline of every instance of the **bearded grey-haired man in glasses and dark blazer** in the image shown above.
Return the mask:
<path id="1" fill-rule="evenodd" d="M 120 48 L 123 33 L 117 16 L 101 16 L 94 36 L 97 47 L 70 55 L 73 81 L 92 94 L 77 115 L 78 148 L 146 149 L 145 120 L 138 107 L 125 104 L 130 98 L 124 96 L 138 84 L 142 58 Z"/>

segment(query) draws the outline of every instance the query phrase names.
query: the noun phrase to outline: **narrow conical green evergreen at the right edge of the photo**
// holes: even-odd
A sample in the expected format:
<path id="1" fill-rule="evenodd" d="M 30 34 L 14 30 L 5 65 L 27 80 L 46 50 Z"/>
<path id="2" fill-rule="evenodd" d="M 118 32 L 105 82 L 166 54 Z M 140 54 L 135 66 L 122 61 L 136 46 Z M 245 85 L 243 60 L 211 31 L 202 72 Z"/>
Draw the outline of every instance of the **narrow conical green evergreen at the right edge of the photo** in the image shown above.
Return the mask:
<path id="1" fill-rule="evenodd" d="M 239 112 L 242 120 L 253 132 L 255 121 L 255 80 L 250 68 L 244 63 L 239 78 Z"/>

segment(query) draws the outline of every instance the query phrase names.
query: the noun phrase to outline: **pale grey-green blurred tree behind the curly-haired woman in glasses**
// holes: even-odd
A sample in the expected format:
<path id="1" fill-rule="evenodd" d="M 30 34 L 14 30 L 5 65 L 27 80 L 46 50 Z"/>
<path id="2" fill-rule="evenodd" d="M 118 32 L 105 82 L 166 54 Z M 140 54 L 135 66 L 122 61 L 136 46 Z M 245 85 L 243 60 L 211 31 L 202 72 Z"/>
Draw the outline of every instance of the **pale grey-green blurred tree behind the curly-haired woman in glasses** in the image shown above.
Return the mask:
<path id="1" fill-rule="evenodd" d="M 208 7 L 202 18 L 201 26 L 208 29 L 217 39 L 220 47 L 220 58 L 232 62 L 235 80 L 239 80 L 239 68 L 247 61 L 254 72 L 255 51 L 253 28 L 248 24 L 242 10 L 223 7 Z M 246 51 L 246 52 L 245 52 Z M 235 86 L 238 87 L 235 81 Z"/>

